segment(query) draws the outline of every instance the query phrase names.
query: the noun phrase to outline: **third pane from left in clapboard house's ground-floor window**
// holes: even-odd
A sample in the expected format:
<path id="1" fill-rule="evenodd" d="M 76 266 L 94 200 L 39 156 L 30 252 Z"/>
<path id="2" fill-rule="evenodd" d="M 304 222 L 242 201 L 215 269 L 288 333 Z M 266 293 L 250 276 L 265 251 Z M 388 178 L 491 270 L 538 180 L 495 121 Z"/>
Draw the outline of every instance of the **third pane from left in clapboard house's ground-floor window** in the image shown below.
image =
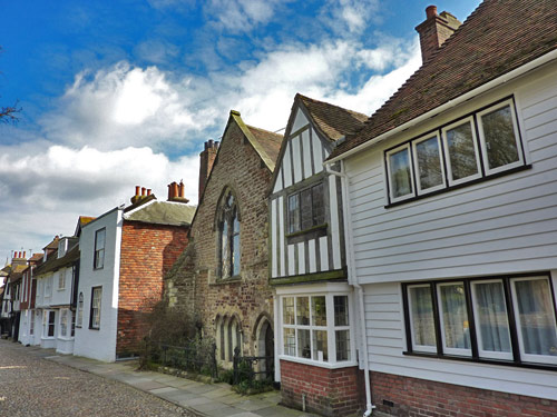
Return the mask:
<path id="1" fill-rule="evenodd" d="M 509 322 L 502 282 L 473 284 L 480 350 L 510 353 Z"/>

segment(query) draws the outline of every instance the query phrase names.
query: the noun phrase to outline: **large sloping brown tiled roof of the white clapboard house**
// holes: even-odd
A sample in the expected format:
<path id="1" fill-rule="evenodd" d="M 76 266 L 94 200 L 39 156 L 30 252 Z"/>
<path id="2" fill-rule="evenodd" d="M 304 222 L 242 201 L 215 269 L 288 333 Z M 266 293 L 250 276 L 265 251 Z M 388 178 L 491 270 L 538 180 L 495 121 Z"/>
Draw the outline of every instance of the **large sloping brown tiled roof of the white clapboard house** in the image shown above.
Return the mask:
<path id="1" fill-rule="evenodd" d="M 557 49 L 555 0 L 486 0 L 334 158 Z"/>

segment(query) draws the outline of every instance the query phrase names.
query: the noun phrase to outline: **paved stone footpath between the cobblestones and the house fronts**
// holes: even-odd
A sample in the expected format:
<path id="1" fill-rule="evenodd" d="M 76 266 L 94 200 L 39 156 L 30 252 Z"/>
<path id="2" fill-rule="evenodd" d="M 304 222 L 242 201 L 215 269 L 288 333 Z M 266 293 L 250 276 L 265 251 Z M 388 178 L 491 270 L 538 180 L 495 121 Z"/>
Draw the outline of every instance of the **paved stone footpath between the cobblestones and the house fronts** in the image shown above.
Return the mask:
<path id="1" fill-rule="evenodd" d="M 192 414 L 218 417 L 317 417 L 278 405 L 281 394 L 268 391 L 251 396 L 240 395 L 225 383 L 205 384 L 155 371 L 137 370 L 137 361 L 102 363 L 72 355 L 60 355 L 53 349 L 23 347 L 26 353 L 58 364 L 120 381 L 148 393 Z"/>

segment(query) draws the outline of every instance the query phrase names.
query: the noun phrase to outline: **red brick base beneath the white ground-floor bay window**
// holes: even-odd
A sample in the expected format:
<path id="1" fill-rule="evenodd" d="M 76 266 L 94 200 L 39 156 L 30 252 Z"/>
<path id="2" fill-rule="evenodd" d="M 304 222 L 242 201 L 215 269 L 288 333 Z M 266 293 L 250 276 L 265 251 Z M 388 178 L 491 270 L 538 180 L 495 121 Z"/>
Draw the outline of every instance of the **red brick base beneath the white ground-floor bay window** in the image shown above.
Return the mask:
<path id="1" fill-rule="evenodd" d="M 328 369 L 281 360 L 281 391 L 284 405 L 324 416 L 348 416 L 364 408 L 361 390 L 363 374 L 358 367 Z"/>

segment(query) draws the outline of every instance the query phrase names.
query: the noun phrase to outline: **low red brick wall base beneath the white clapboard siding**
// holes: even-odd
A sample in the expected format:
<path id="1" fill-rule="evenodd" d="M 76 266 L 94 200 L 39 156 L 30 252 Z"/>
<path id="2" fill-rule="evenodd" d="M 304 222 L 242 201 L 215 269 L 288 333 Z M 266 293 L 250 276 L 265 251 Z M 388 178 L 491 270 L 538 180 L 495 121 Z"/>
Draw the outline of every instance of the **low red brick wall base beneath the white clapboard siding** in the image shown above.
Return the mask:
<path id="1" fill-rule="evenodd" d="M 557 379 L 556 379 L 557 380 Z M 373 404 L 391 416 L 555 417 L 557 401 L 371 373 Z M 385 405 L 384 401 L 391 401 Z"/>

